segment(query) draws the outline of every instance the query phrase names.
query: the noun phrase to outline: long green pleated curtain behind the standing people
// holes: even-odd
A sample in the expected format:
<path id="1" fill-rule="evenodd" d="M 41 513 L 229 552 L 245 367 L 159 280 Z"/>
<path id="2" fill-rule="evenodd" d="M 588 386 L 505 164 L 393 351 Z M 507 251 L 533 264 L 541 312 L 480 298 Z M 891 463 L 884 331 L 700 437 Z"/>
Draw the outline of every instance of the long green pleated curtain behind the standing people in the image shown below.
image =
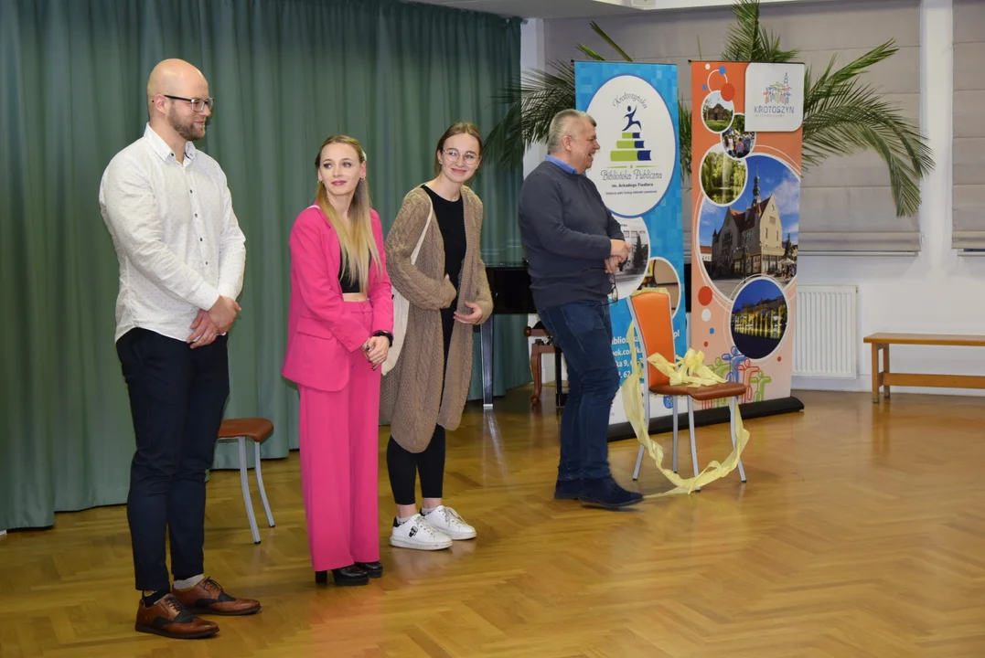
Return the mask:
<path id="1" fill-rule="evenodd" d="M 404 195 L 430 178 L 451 122 L 485 133 L 498 121 L 493 96 L 519 78 L 519 56 L 516 20 L 395 0 L 0 2 L 0 528 L 126 500 L 134 440 L 99 179 L 143 134 L 158 61 L 192 62 L 216 98 L 197 146 L 226 170 L 247 249 L 226 413 L 272 419 L 263 454 L 284 457 L 297 447 L 298 406 L 280 374 L 288 235 L 312 203 L 318 146 L 334 133 L 361 140 L 389 229 Z M 474 181 L 488 262 L 522 257 L 520 182 L 492 164 Z M 530 381 L 525 319 L 504 320 L 497 393 Z M 478 359 L 475 370 L 479 396 Z M 221 445 L 216 466 L 235 463 L 235 447 Z"/>

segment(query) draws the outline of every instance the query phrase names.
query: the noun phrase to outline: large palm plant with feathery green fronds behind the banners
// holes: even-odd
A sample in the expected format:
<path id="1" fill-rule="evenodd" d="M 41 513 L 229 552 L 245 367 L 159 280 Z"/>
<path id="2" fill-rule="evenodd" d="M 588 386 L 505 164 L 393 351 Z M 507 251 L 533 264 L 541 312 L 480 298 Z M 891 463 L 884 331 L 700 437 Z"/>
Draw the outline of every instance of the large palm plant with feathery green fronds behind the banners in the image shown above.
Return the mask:
<path id="1" fill-rule="evenodd" d="M 759 24 L 759 0 L 736 0 L 736 24 L 722 50 L 723 61 L 789 62 L 798 50 L 783 50 L 780 37 Z M 596 23 L 592 30 L 626 62 L 632 59 Z M 897 216 L 916 214 L 920 208 L 919 180 L 934 167 L 933 153 L 919 127 L 880 97 L 860 76 L 898 51 L 890 39 L 845 66 L 835 69 L 835 57 L 815 77 L 808 67 L 804 80 L 803 168 L 820 164 L 832 155 L 873 150 L 886 162 Z M 605 61 L 592 48 L 578 44 L 589 59 Z M 516 85 L 503 90 L 498 100 L 506 113 L 490 133 L 487 156 L 507 166 L 520 166 L 527 148 L 547 141 L 551 119 L 561 109 L 574 107 L 574 64 L 554 63 L 551 71 L 529 71 Z M 690 175 L 690 108 L 678 103 L 681 131 L 682 178 Z"/>

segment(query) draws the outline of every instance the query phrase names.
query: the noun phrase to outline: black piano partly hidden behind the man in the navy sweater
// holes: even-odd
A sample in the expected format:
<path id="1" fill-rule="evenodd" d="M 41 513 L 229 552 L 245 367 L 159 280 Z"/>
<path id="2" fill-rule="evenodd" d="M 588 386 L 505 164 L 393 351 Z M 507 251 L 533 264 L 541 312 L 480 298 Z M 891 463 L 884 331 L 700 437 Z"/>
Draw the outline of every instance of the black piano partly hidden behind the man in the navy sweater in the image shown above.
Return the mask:
<path id="1" fill-rule="evenodd" d="M 493 335 L 496 316 L 536 315 L 534 297 L 530 293 L 530 274 L 525 261 L 486 264 L 486 276 L 493 293 L 493 317 L 479 327 L 482 341 L 483 406 L 493 406 Z M 685 310 L 690 312 L 690 264 L 684 266 Z M 560 377 L 560 349 L 555 352 L 555 373 Z M 563 393 L 557 381 L 558 406 L 563 406 Z"/>

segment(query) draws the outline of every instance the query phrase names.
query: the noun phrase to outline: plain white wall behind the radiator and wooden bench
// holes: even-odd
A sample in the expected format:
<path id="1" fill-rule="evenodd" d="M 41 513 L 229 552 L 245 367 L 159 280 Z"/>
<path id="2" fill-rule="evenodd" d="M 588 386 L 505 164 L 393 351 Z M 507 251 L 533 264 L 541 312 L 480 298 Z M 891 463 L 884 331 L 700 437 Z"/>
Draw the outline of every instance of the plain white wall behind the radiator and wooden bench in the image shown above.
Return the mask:
<path id="1" fill-rule="evenodd" d="M 869 333 L 985 333 L 985 258 L 961 257 L 951 249 L 952 0 L 922 0 L 920 24 L 921 125 L 936 162 L 921 186 L 920 254 L 800 257 L 798 280 L 802 285 L 859 286 L 859 378 L 854 381 L 794 378 L 794 389 L 870 389 L 871 351 L 862 343 Z M 522 35 L 522 65 L 543 68 L 543 22 L 528 22 Z M 528 158 L 524 174 L 538 161 L 540 157 Z M 981 348 L 900 345 L 891 348 L 891 360 L 892 369 L 897 372 L 985 374 L 985 349 Z M 545 381 L 551 378 L 553 373 Z M 928 389 L 927 392 L 968 394 L 970 391 Z"/>

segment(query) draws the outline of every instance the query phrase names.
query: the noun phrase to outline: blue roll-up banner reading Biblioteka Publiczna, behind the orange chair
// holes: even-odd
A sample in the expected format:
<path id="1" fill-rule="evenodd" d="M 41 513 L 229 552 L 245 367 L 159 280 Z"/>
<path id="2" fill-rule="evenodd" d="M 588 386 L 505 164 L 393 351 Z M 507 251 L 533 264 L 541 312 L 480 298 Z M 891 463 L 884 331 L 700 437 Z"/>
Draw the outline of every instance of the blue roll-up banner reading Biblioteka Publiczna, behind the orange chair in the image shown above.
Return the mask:
<path id="1" fill-rule="evenodd" d="M 575 62 L 575 106 L 597 124 L 601 146 L 586 175 L 623 226 L 629 258 L 616 272 L 611 298 L 613 353 L 620 382 L 629 377 L 630 293 L 664 288 L 671 294 L 675 348 L 687 350 L 684 299 L 684 227 L 678 148 L 678 72 L 671 64 Z M 636 354 L 640 353 L 637 345 Z M 670 401 L 650 400 L 651 415 L 670 414 Z M 610 424 L 626 422 L 617 395 Z"/>

